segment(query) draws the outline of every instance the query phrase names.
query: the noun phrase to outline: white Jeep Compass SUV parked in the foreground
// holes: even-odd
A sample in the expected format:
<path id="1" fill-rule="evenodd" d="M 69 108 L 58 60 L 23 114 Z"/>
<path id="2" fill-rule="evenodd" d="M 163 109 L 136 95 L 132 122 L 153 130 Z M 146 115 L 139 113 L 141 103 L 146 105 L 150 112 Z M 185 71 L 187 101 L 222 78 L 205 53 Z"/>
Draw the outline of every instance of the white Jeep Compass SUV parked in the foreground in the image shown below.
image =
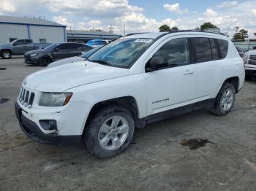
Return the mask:
<path id="1" fill-rule="evenodd" d="M 196 31 L 132 34 L 86 61 L 30 74 L 15 111 L 35 141 L 83 140 L 91 153 L 113 157 L 135 127 L 211 107 L 225 115 L 244 85 L 244 63 L 226 36 Z"/>

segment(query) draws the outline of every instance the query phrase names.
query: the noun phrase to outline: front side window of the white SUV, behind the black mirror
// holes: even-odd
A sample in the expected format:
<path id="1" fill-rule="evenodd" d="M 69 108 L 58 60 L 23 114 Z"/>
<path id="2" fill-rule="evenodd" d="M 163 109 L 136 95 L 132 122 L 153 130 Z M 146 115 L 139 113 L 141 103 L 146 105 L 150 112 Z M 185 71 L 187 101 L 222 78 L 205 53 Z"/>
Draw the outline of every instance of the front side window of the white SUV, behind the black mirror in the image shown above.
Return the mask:
<path id="1" fill-rule="evenodd" d="M 166 42 L 159 50 L 157 50 L 153 57 L 159 57 L 166 63 L 166 68 L 189 64 L 188 39 L 173 39 Z"/>

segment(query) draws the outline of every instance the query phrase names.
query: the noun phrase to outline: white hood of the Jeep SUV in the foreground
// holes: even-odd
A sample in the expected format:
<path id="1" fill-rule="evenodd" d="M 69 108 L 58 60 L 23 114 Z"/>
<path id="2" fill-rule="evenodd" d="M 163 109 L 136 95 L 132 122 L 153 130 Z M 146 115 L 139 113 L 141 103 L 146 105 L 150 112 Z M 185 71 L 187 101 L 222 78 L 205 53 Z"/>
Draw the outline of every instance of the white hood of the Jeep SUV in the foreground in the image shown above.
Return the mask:
<path id="1" fill-rule="evenodd" d="M 26 77 L 23 83 L 31 90 L 64 92 L 72 87 L 99 82 L 105 79 L 124 77 L 128 74 L 129 69 L 80 61 L 37 71 Z"/>

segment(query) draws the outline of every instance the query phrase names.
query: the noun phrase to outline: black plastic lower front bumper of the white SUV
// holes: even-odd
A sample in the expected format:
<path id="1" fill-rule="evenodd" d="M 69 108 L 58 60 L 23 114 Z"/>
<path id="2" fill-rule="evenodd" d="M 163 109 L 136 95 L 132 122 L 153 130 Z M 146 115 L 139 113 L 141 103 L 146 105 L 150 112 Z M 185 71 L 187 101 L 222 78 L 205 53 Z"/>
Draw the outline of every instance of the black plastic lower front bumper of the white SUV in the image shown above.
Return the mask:
<path id="1" fill-rule="evenodd" d="M 35 122 L 23 116 L 22 109 L 17 101 L 15 102 L 15 114 L 18 118 L 20 128 L 26 136 L 39 143 L 67 145 L 78 144 L 82 140 L 82 136 L 59 136 L 56 134 L 43 133 Z"/>

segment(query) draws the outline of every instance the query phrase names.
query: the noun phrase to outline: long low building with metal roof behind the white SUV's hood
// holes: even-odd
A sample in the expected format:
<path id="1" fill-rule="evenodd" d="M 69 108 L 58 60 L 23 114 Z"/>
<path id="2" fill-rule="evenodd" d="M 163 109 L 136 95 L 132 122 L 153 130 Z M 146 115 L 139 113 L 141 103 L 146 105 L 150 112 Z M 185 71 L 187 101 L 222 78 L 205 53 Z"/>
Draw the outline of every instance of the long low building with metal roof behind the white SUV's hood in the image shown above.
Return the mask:
<path id="1" fill-rule="evenodd" d="M 67 41 L 68 42 L 84 42 L 91 39 L 105 39 L 113 40 L 121 37 L 121 35 L 108 33 L 105 31 L 78 31 L 78 30 L 67 30 Z"/>

